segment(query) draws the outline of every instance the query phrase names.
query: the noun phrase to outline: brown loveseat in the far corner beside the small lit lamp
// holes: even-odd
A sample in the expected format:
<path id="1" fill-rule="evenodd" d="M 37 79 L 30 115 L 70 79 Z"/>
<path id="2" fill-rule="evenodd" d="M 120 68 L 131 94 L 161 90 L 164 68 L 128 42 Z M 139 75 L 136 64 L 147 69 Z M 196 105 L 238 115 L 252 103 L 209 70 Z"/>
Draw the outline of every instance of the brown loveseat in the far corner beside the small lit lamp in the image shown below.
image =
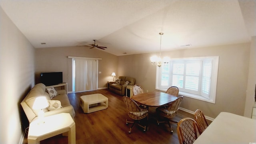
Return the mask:
<path id="1" fill-rule="evenodd" d="M 128 76 L 119 76 L 118 79 L 120 79 L 120 84 L 111 84 L 109 89 L 116 94 L 124 96 L 126 94 L 126 87 L 135 84 L 135 78 L 131 78 Z M 125 84 L 126 81 L 129 81 L 127 85 Z"/>

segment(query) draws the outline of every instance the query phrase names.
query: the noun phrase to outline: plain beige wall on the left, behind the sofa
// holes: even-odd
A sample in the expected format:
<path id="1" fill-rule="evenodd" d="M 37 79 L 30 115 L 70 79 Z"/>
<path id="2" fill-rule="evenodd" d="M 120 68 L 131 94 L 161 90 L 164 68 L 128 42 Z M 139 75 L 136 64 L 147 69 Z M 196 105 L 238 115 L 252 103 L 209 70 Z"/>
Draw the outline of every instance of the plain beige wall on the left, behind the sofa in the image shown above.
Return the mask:
<path id="1" fill-rule="evenodd" d="M 32 86 L 34 48 L 0 7 L 1 144 L 18 144 L 23 138 L 20 122 L 27 118 L 20 102 Z"/>

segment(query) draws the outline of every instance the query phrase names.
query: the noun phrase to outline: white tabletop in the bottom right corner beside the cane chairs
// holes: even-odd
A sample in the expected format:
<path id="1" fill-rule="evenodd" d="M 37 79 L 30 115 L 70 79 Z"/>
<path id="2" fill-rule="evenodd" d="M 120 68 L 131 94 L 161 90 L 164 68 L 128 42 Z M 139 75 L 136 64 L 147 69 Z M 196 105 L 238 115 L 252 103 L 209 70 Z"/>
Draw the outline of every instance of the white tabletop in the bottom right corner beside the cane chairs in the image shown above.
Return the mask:
<path id="1" fill-rule="evenodd" d="M 256 120 L 221 112 L 194 144 L 255 144 Z"/>

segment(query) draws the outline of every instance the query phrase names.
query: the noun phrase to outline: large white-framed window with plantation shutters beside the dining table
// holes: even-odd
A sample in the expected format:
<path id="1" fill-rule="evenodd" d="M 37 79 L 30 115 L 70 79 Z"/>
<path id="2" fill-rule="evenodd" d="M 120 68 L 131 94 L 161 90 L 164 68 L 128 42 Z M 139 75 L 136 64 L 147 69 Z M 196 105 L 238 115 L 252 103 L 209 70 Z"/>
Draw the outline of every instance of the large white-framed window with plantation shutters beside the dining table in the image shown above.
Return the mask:
<path id="1" fill-rule="evenodd" d="M 215 103 L 219 57 L 171 59 L 156 70 L 156 89 L 177 86 L 179 94 Z"/>

